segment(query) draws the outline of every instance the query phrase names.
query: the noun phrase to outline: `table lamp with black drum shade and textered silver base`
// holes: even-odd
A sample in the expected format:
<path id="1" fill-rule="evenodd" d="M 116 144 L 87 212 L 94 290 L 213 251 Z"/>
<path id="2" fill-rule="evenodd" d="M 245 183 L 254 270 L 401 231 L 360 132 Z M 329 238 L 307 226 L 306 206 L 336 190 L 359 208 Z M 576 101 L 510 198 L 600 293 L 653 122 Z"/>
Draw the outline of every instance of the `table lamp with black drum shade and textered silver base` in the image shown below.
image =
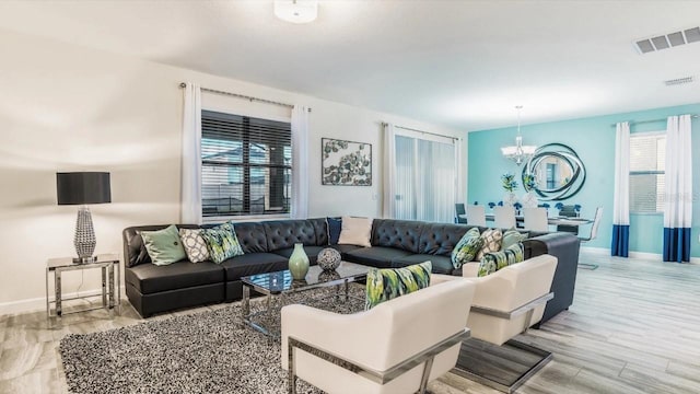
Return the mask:
<path id="1" fill-rule="evenodd" d="M 109 173 L 106 172 L 71 172 L 56 173 L 56 195 L 58 205 L 82 205 L 75 221 L 73 244 L 78 257 L 74 263 L 94 263 L 95 230 L 88 204 L 112 202 Z"/>

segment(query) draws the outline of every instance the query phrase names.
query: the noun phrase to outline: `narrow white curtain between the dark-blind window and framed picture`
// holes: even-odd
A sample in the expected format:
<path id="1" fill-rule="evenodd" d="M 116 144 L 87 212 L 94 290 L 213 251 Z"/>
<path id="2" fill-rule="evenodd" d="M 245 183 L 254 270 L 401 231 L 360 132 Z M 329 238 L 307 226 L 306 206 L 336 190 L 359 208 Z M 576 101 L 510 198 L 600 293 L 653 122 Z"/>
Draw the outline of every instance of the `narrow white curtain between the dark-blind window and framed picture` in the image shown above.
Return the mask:
<path id="1" fill-rule="evenodd" d="M 301 105 L 292 109 L 291 217 L 308 217 L 308 108 Z"/>

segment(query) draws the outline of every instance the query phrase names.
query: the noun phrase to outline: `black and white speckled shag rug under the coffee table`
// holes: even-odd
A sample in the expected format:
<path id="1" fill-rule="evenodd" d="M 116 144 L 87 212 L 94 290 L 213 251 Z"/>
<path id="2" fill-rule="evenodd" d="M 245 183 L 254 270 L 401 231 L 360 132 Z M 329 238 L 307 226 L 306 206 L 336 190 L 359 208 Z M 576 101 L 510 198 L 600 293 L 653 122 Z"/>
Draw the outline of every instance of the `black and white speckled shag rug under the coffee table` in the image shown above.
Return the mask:
<path id="1" fill-rule="evenodd" d="M 331 289 L 294 294 L 293 302 L 338 313 L 364 309 L 363 287 L 348 303 Z M 308 300 L 313 297 L 315 300 Z M 252 302 L 260 311 L 262 299 Z M 279 325 L 279 313 L 275 314 Z M 215 311 L 144 322 L 61 339 L 72 393 L 287 393 L 280 343 L 244 325 L 240 302 Z M 320 393 L 299 380 L 299 393 Z"/>

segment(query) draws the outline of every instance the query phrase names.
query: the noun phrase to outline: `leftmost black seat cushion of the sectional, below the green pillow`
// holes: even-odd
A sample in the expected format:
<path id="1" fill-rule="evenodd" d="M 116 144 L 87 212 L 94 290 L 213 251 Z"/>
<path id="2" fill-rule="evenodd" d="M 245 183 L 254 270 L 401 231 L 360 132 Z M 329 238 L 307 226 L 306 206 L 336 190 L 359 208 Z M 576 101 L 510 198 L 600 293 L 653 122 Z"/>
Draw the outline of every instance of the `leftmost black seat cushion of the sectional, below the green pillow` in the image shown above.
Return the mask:
<path id="1" fill-rule="evenodd" d="M 165 266 L 141 264 L 125 269 L 124 280 L 141 294 L 184 289 L 192 286 L 222 283 L 224 270 L 211 262 L 177 262 Z"/>

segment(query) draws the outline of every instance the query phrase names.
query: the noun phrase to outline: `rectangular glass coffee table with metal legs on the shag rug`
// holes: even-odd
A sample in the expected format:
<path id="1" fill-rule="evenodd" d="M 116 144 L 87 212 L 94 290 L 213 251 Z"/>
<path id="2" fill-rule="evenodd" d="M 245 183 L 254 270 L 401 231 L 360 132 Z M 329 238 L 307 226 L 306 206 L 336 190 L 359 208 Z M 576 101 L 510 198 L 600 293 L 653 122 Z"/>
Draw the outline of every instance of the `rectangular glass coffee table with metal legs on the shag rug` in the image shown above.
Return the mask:
<path id="1" fill-rule="evenodd" d="M 334 271 L 324 271 L 319 266 L 311 266 L 306 278 L 304 280 L 293 280 L 292 274 L 289 269 L 252 275 L 241 278 L 243 282 L 243 302 L 241 308 L 241 314 L 243 321 L 253 328 L 269 335 L 279 336 L 279 327 L 275 329 L 269 326 L 269 322 L 272 322 L 281 306 L 289 304 L 289 296 L 296 292 L 308 291 L 325 287 L 336 287 L 335 297 L 348 301 L 350 297 L 348 294 L 348 287 L 351 282 L 366 279 L 370 267 L 360 264 L 341 262 L 340 266 Z M 265 308 L 257 313 L 250 313 L 250 290 L 255 290 L 266 297 Z M 341 293 L 342 291 L 342 293 Z M 272 297 L 275 297 L 279 304 L 278 308 L 272 305 Z M 261 322 L 254 322 L 254 317 L 262 315 L 264 320 L 268 322 L 266 327 Z"/>

